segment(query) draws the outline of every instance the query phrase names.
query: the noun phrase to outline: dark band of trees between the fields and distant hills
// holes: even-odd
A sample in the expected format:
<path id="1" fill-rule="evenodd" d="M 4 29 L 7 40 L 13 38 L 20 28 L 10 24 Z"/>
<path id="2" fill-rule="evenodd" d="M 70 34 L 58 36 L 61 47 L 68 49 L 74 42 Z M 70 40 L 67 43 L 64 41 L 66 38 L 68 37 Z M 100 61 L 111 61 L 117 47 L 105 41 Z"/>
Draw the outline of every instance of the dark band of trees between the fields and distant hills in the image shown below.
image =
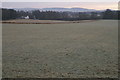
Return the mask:
<path id="1" fill-rule="evenodd" d="M 107 9 L 103 12 L 56 12 L 56 11 L 16 11 L 2 8 L 2 20 L 22 19 L 29 16 L 38 20 L 93 20 L 93 19 L 119 19 L 120 11 Z"/>

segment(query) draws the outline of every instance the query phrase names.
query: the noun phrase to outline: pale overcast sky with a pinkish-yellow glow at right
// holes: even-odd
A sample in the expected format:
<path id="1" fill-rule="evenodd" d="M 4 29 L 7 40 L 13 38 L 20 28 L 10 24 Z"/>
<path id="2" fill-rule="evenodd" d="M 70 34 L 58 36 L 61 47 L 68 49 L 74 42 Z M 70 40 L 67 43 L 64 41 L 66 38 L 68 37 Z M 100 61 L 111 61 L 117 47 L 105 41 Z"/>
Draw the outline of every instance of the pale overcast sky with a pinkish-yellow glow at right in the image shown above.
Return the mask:
<path id="1" fill-rule="evenodd" d="M 117 2 L 3 2 L 3 8 L 88 8 L 88 9 L 118 9 Z"/>

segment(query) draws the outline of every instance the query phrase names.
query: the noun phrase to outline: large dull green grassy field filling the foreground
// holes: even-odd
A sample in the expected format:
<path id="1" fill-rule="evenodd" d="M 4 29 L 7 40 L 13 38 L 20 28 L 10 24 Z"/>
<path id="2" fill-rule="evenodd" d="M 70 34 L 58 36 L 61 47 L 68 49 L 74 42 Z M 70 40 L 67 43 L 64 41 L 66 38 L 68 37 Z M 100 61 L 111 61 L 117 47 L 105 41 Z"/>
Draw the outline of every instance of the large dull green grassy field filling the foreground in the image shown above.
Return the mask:
<path id="1" fill-rule="evenodd" d="M 3 78 L 117 78 L 117 25 L 3 24 Z"/>

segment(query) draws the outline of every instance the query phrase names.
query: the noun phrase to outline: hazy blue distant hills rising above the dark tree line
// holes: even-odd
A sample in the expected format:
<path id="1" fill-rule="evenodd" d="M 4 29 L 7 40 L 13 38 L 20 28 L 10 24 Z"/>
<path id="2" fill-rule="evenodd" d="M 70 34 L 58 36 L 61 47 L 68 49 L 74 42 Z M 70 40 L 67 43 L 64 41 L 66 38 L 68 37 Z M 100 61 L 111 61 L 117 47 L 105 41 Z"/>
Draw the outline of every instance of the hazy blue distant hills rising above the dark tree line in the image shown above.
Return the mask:
<path id="1" fill-rule="evenodd" d="M 58 12 L 93 12 L 97 11 L 95 9 L 86 9 L 86 8 L 14 8 L 17 11 L 32 11 L 32 10 L 40 10 L 40 11 L 58 11 Z"/>

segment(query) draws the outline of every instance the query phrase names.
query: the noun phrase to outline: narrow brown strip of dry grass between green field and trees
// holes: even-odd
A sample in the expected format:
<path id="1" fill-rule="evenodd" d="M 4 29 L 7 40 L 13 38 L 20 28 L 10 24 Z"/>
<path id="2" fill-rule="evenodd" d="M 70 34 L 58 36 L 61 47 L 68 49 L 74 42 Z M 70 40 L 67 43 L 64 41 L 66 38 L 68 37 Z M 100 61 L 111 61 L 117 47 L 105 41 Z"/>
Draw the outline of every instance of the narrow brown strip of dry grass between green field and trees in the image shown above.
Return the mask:
<path id="1" fill-rule="evenodd" d="M 94 20 L 80 20 L 80 21 L 60 21 L 60 20 L 32 20 L 32 19 L 17 19 L 17 20 L 5 20 L 1 23 L 9 24 L 68 24 L 68 23 L 84 23 Z"/>

